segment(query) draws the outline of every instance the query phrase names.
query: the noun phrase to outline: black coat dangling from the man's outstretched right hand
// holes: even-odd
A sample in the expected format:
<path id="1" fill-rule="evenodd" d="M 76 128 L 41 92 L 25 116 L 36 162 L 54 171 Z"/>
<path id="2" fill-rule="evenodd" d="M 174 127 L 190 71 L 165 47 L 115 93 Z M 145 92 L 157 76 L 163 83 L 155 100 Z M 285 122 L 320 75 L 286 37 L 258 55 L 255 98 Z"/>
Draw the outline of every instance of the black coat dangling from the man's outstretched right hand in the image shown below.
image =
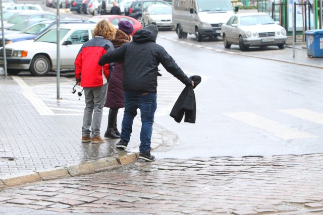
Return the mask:
<path id="1" fill-rule="evenodd" d="M 189 79 L 194 82 L 194 87 L 186 86 L 184 88 L 175 102 L 170 114 L 170 116 L 173 117 L 178 123 L 182 121 L 184 114 L 184 122 L 195 123 L 196 101 L 193 89 L 201 82 L 202 79 L 200 76 L 191 76 Z"/>

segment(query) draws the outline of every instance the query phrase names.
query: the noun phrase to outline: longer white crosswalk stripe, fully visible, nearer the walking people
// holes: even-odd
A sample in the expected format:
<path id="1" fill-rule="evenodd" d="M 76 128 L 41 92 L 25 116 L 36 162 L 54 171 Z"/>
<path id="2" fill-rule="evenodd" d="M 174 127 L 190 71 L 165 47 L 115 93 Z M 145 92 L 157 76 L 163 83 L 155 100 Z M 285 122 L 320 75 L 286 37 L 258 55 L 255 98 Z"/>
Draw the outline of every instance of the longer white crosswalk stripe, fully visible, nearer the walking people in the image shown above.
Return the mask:
<path id="1" fill-rule="evenodd" d="M 259 116 L 251 112 L 225 113 L 224 115 L 253 127 L 273 133 L 283 139 L 315 137 L 315 135 L 313 134 L 298 130 L 296 128 L 290 128 L 286 125 L 280 124 L 277 121 Z"/>

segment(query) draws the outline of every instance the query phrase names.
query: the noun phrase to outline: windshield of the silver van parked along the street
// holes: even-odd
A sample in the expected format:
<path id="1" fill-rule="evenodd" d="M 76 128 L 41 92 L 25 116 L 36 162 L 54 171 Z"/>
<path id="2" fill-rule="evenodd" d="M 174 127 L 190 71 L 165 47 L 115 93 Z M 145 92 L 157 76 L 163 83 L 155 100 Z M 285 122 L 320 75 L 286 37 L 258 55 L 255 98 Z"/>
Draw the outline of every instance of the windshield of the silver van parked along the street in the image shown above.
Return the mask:
<path id="1" fill-rule="evenodd" d="M 199 12 L 207 11 L 232 11 L 231 2 L 228 0 L 197 0 Z"/>

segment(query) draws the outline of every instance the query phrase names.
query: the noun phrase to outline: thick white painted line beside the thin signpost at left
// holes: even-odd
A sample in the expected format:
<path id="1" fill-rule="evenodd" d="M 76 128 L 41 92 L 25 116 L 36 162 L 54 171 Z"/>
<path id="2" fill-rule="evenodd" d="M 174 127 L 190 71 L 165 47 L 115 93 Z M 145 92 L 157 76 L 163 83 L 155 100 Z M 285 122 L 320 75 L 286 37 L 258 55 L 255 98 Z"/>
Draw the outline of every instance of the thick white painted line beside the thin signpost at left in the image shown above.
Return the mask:
<path id="1" fill-rule="evenodd" d="M 44 103 L 44 101 L 35 94 L 28 85 L 18 76 L 12 76 L 23 90 L 23 95 L 34 106 L 39 115 L 55 115 L 55 113 Z"/>

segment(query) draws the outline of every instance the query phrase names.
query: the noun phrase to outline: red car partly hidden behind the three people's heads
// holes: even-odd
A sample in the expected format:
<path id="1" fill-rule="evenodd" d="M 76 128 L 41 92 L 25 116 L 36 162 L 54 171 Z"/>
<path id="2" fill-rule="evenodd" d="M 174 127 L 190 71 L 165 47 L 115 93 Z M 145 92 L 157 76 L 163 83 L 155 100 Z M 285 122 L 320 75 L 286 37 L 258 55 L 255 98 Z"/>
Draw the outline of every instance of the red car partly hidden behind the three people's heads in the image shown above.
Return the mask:
<path id="1" fill-rule="evenodd" d="M 133 36 L 137 30 L 142 28 L 141 23 L 138 20 L 132 17 L 123 16 L 123 15 L 99 15 L 99 16 L 94 16 L 90 18 L 89 21 L 97 23 L 101 19 L 105 19 L 111 22 L 115 26 L 115 28 L 118 28 L 118 23 L 120 21 L 129 21 L 133 25 L 133 32 L 131 36 Z"/>

